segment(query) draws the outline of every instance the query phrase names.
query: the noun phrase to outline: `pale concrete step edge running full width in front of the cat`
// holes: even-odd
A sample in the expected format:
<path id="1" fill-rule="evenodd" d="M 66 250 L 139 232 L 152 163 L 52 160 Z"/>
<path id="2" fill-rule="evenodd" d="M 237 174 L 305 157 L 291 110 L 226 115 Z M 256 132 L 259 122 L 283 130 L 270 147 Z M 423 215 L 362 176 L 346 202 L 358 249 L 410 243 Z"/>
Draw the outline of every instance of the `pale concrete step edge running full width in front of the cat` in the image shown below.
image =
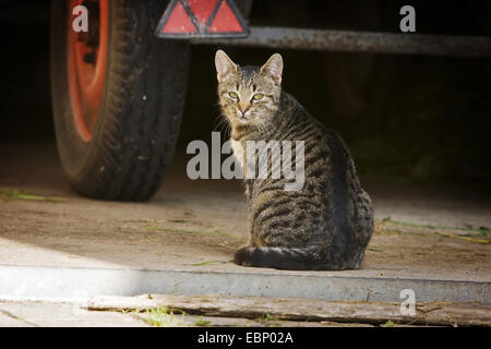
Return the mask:
<path id="1" fill-rule="evenodd" d="M 403 290 L 409 289 L 410 291 Z M 0 266 L 0 297 L 177 296 L 302 298 L 325 301 L 491 303 L 491 282 L 339 276 L 336 273 Z"/>

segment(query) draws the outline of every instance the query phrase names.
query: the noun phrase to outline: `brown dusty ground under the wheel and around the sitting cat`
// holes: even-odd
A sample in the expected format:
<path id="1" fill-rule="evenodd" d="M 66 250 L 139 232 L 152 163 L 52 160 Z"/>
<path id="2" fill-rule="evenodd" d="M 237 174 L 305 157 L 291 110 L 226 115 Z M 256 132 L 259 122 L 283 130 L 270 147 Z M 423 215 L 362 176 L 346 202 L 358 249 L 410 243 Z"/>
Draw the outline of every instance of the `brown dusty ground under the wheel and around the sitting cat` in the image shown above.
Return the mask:
<path id="1" fill-rule="evenodd" d="M 2 146 L 0 154 L 0 264 L 264 270 L 231 263 L 247 239 L 241 183 L 189 180 L 182 151 L 148 203 L 79 196 L 53 146 Z M 363 184 L 375 233 L 363 270 L 338 275 L 491 280 L 487 189 Z"/>

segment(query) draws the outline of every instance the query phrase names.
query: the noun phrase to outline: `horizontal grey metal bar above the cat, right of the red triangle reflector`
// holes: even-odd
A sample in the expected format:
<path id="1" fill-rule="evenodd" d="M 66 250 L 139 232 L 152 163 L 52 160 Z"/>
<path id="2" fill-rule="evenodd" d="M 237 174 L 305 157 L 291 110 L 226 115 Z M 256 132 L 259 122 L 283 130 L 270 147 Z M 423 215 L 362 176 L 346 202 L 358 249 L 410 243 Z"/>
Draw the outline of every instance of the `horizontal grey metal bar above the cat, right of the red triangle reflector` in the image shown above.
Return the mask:
<path id="1" fill-rule="evenodd" d="M 192 44 L 230 45 L 340 52 L 491 57 L 491 37 L 393 34 L 289 27 L 250 27 L 247 38 L 193 39 Z"/>

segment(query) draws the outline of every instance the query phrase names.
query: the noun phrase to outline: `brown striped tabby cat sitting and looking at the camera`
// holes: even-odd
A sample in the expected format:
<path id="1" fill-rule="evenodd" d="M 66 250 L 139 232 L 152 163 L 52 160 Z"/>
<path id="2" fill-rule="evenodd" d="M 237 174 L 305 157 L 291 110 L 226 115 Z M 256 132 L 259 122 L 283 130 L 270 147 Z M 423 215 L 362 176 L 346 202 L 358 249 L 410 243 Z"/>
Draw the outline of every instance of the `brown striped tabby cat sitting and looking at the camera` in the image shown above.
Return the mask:
<path id="1" fill-rule="evenodd" d="M 250 236 L 235 262 L 303 270 L 361 267 L 373 231 L 373 210 L 340 136 L 282 89 L 280 55 L 273 55 L 261 68 L 240 67 L 218 50 L 215 65 L 219 106 L 242 167 L 248 141 L 304 144 L 301 190 L 285 190 L 291 179 L 246 177 Z"/>

